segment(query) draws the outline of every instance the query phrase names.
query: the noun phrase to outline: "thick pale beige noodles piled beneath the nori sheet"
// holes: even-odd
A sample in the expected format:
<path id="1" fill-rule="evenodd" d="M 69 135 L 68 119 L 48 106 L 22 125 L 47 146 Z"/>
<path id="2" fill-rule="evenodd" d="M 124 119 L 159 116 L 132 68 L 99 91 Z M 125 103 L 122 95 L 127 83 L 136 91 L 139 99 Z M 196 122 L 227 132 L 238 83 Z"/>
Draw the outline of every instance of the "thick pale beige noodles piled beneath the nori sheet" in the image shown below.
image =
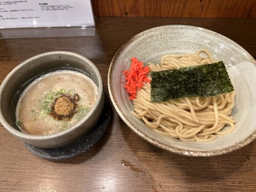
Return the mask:
<path id="1" fill-rule="evenodd" d="M 160 64 L 148 63 L 151 71 L 176 69 L 215 62 L 209 51 L 201 49 L 196 54 L 165 55 Z M 151 78 L 148 76 L 148 78 Z M 150 83 L 138 90 L 133 100 L 138 119 L 159 134 L 182 141 L 211 141 L 216 135 L 234 130 L 234 120 L 229 116 L 234 106 L 234 91 L 212 97 L 181 98 L 167 102 L 151 102 Z M 229 124 L 230 126 L 223 127 Z"/>

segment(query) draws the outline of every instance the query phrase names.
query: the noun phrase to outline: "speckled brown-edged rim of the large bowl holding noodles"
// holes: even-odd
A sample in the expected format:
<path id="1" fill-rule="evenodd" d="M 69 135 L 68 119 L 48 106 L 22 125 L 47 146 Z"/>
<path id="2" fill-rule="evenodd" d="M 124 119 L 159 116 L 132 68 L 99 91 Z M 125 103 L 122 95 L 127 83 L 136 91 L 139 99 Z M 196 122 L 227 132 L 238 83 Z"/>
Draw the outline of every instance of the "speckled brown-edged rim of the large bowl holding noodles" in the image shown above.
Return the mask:
<path id="1" fill-rule="evenodd" d="M 189 29 L 198 29 L 198 30 L 201 30 L 201 31 L 204 31 L 204 32 L 207 32 L 207 33 L 210 33 L 210 34 L 215 34 L 215 35 L 218 35 L 219 37 L 227 40 L 228 42 L 231 42 L 232 44 L 238 46 L 240 49 L 242 49 L 246 54 L 247 56 L 249 56 L 250 58 L 250 61 L 254 63 L 254 66 L 256 65 L 256 62 L 255 62 L 255 59 L 242 47 L 240 46 L 239 44 L 237 44 L 237 42 L 229 39 L 228 37 L 220 34 L 220 33 L 217 33 L 215 31 L 211 31 L 211 30 L 208 30 L 208 29 L 205 29 L 205 28 L 202 28 L 202 27 L 196 27 L 196 26 L 189 26 L 189 25 L 164 25 L 164 26 L 159 26 L 159 27 L 154 27 L 154 28 L 151 28 L 151 29 L 147 29 L 145 31 L 142 31 L 136 35 L 134 35 L 133 37 L 131 37 L 127 42 L 125 42 L 125 44 L 123 44 L 119 49 L 118 51 L 115 53 L 113 59 L 111 60 L 111 63 L 110 63 L 110 67 L 109 67 L 109 72 L 108 72 L 108 90 L 109 90 L 109 96 L 110 96 L 110 99 L 113 103 L 113 106 L 115 108 L 115 110 L 117 111 L 118 115 L 120 116 L 120 118 L 124 121 L 124 123 L 130 127 L 131 130 L 133 130 L 139 137 L 141 137 L 142 139 L 144 139 L 145 141 L 159 147 L 159 148 L 162 148 L 163 150 L 166 150 L 166 151 L 169 151 L 169 152 L 174 152 L 174 153 L 177 153 L 177 154 L 181 154 L 181 155 L 186 155 L 186 156 L 194 156 L 194 157 L 207 157 L 207 156 L 216 156 L 216 155 L 222 155 L 222 154 L 226 154 L 226 153 L 230 153 L 230 152 L 233 152 L 235 150 L 238 150 L 239 148 L 249 144 L 250 142 L 252 142 L 255 138 L 256 138 L 256 130 L 254 132 L 252 132 L 248 137 L 246 137 L 245 139 L 243 139 L 242 141 L 236 143 L 236 144 L 233 144 L 231 146 L 228 146 L 228 147 L 225 147 L 225 148 L 221 148 L 219 150 L 212 150 L 212 151 L 196 151 L 196 150 L 183 150 L 183 149 L 180 149 L 180 148 L 177 148 L 177 147 L 174 147 L 174 146 L 169 146 L 169 145 L 166 145 L 166 144 L 163 144 L 153 138 L 150 138 L 150 137 L 147 137 L 144 133 L 142 133 L 141 131 L 139 131 L 138 129 L 136 129 L 135 126 L 133 126 L 128 120 L 127 118 L 122 114 L 118 104 L 117 104 L 117 101 L 115 99 L 115 95 L 114 95 L 114 92 L 113 92 L 113 87 L 112 87 L 112 71 L 114 69 L 114 66 L 115 66 L 115 62 L 116 60 L 118 59 L 119 55 L 122 53 L 122 51 L 128 47 L 130 44 L 132 44 L 132 42 L 137 39 L 138 37 L 140 37 L 143 33 L 148 33 L 150 32 L 151 30 L 155 30 L 155 29 L 158 29 L 158 28 L 167 28 L 167 27 L 176 27 L 176 28 L 189 28 Z"/>

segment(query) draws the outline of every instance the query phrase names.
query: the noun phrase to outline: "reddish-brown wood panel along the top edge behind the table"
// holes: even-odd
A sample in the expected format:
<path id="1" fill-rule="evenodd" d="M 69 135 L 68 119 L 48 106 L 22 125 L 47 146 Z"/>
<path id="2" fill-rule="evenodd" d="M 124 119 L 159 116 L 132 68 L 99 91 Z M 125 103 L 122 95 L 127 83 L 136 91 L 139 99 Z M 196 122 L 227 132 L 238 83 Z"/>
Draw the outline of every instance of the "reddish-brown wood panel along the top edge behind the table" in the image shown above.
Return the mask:
<path id="1" fill-rule="evenodd" d="M 256 18 L 256 1 L 230 0 L 94 0 L 96 16 Z"/>

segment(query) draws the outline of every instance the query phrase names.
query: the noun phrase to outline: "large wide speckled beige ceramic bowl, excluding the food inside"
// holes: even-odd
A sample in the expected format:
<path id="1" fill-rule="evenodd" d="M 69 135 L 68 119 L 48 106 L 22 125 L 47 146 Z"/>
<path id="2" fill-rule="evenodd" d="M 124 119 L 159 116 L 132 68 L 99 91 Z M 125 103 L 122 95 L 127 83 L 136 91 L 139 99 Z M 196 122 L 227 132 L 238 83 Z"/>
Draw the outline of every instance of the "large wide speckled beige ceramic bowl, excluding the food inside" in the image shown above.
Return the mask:
<path id="1" fill-rule="evenodd" d="M 147 63 L 159 63 L 165 54 L 195 53 L 208 49 L 216 60 L 228 68 L 236 90 L 232 116 L 237 121 L 232 133 L 211 142 L 184 142 L 160 136 L 131 115 L 133 103 L 122 88 L 123 71 L 129 69 L 131 57 Z M 214 156 L 237 150 L 256 137 L 255 60 L 236 42 L 216 32 L 193 26 L 169 25 L 143 31 L 132 37 L 115 54 L 108 74 L 110 98 L 121 119 L 141 138 L 187 156 Z"/>

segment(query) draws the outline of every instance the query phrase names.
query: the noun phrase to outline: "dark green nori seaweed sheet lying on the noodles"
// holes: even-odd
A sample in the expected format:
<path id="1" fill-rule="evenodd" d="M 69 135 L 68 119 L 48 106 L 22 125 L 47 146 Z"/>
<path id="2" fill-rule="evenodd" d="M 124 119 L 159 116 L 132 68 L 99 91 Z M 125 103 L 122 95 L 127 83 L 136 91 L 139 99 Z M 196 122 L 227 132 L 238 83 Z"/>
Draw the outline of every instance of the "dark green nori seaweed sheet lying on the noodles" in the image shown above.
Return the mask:
<path id="1" fill-rule="evenodd" d="M 210 97 L 234 90 L 223 61 L 151 72 L 151 77 L 152 102 L 184 97 Z"/>

